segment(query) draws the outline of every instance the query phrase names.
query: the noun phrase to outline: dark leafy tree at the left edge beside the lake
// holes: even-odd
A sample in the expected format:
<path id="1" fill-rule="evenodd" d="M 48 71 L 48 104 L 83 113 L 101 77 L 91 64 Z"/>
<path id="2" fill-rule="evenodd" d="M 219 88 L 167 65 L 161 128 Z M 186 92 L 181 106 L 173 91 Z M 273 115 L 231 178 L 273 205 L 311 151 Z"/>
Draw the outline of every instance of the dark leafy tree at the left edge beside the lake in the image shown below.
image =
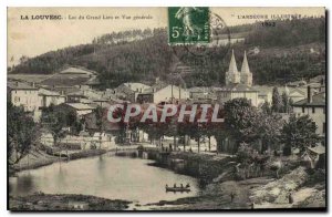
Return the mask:
<path id="1" fill-rule="evenodd" d="M 38 125 L 23 107 L 7 103 L 7 156 L 10 165 L 23 158 L 39 138 Z"/>

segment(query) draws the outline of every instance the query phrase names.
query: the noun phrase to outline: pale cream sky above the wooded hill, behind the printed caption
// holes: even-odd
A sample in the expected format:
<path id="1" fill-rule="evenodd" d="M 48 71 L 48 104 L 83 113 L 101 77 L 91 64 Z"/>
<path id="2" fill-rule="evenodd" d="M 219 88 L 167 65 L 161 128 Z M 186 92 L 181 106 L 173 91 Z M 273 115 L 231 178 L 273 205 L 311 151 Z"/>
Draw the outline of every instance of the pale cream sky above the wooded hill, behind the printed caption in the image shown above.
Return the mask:
<path id="1" fill-rule="evenodd" d="M 211 8 L 227 25 L 253 23 L 243 16 L 324 16 L 324 8 Z M 61 16 L 61 20 L 33 20 L 38 16 Z M 84 17 L 84 20 L 79 17 Z M 126 17 L 126 19 L 123 18 Z M 136 19 L 134 17 L 148 17 Z M 23 18 L 28 17 L 29 20 Z M 73 18 L 76 19 L 73 19 Z M 101 17 L 101 19 L 96 19 Z M 113 19 L 103 19 L 113 17 Z M 118 19 L 115 20 L 115 17 Z M 128 19 L 128 17 L 131 17 Z M 92 19 L 95 18 L 95 19 Z M 70 45 L 91 43 L 98 35 L 133 29 L 167 27 L 167 8 L 8 8 L 8 64 Z"/>

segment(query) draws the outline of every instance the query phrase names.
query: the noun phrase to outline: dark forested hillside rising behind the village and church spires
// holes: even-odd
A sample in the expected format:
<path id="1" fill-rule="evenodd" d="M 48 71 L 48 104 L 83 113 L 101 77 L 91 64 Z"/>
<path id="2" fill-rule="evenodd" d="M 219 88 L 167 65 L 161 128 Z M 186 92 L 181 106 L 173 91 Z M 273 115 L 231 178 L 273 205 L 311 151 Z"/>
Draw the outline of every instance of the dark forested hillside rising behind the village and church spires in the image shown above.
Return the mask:
<path id="1" fill-rule="evenodd" d="M 232 44 L 238 68 L 243 50 L 257 84 L 284 83 L 310 79 L 325 73 L 325 19 L 273 21 L 274 27 L 245 24 L 231 27 Z M 222 34 L 225 32 L 220 32 Z M 222 37 L 222 35 L 221 35 Z M 191 85 L 217 85 L 224 83 L 230 51 L 220 58 L 224 49 L 206 58 L 197 68 L 194 60 L 185 60 L 191 73 L 184 80 Z M 167 30 L 133 30 L 113 32 L 95 38 L 90 44 L 70 46 L 27 59 L 10 73 L 54 73 L 64 64 L 81 65 L 100 73 L 102 87 L 112 87 L 122 82 L 154 81 L 166 79 L 177 59 L 167 43 Z"/>

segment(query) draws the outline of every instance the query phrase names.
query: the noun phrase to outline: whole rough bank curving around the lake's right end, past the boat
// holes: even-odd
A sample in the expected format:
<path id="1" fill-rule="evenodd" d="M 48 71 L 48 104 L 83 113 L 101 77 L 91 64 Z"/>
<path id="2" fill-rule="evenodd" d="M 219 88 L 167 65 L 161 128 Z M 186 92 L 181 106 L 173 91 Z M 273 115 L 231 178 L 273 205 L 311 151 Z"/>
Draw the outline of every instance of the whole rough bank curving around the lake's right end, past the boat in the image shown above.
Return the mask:
<path id="1" fill-rule="evenodd" d="M 142 151 L 145 152 L 145 157 L 155 161 L 154 166 L 194 176 L 201 184 L 200 195 L 146 205 L 156 206 L 153 209 L 326 208 L 325 170 L 301 166 L 298 158 L 284 159 L 288 164 L 280 170 L 279 178 L 276 178 L 273 170 L 266 170 L 262 177 L 241 179 L 232 169 L 236 159 L 230 155 L 162 153 L 156 148 Z"/>

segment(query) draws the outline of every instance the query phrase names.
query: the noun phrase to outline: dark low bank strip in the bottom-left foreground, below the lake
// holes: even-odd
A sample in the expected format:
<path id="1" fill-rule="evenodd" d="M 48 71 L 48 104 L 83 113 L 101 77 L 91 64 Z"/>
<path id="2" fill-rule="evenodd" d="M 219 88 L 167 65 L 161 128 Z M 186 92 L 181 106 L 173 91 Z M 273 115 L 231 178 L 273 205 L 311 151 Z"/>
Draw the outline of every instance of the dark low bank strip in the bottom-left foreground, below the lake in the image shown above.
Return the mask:
<path id="1" fill-rule="evenodd" d="M 24 197 L 10 197 L 9 209 L 12 211 L 28 210 L 125 210 L 131 202 L 105 199 L 87 195 L 43 194 L 37 193 Z"/>

